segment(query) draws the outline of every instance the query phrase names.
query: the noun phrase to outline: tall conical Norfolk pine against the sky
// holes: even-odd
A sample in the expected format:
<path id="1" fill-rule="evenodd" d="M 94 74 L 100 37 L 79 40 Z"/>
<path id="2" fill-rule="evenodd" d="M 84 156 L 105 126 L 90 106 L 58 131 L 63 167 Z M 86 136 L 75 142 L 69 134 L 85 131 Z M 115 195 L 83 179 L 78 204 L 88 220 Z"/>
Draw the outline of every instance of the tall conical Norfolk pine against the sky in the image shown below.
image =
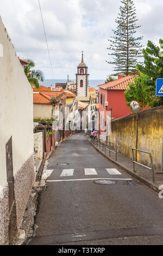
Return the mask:
<path id="1" fill-rule="evenodd" d="M 111 36 L 110 46 L 107 48 L 112 53 L 109 55 L 114 56 L 112 62 L 109 64 L 115 65 L 114 71 L 116 74 L 129 75 L 136 73 L 137 58 L 142 57 L 142 45 L 140 40 L 142 36 L 134 37 L 136 29 L 141 27 L 137 26 L 136 22 L 136 8 L 134 1 L 123 0 L 123 6 L 120 7 L 120 14 L 118 14 L 115 22 L 117 23 L 114 36 Z"/>

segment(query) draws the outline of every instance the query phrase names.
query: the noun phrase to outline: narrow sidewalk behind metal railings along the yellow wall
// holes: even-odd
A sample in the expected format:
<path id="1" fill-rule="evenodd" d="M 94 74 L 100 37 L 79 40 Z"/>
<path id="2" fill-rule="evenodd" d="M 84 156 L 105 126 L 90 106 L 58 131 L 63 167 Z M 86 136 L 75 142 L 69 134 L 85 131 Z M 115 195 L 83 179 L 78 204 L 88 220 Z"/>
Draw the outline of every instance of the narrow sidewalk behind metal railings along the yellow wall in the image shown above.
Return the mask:
<path id="1" fill-rule="evenodd" d="M 99 149 L 99 145 L 93 144 L 91 142 L 91 139 L 88 139 L 88 141 L 95 147 L 99 153 L 101 153 L 103 156 L 105 156 L 109 161 L 116 164 L 116 166 L 120 167 L 122 170 L 142 182 L 143 184 L 147 185 L 148 187 L 151 187 L 154 191 L 160 192 L 159 186 L 163 185 L 163 173 L 157 173 L 154 171 L 154 178 L 155 183 L 153 183 L 152 180 L 152 170 L 149 170 L 145 167 L 140 166 L 139 164 L 135 164 L 135 172 L 133 171 L 133 161 L 129 159 L 128 157 L 117 153 L 117 161 L 115 160 L 115 154 L 110 153 L 109 156 L 109 150 L 106 150 L 106 154 L 102 149 Z"/>

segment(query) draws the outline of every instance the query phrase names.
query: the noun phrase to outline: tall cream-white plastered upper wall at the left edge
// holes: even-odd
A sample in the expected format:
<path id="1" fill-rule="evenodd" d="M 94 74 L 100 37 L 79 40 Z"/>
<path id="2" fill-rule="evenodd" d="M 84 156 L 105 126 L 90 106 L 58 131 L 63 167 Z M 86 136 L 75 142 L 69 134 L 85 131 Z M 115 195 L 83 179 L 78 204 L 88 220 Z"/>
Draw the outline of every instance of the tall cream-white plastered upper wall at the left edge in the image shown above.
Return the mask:
<path id="1" fill-rule="evenodd" d="M 33 90 L 0 16 L 0 186 L 7 182 L 5 144 L 12 136 L 14 174 L 33 154 Z"/>

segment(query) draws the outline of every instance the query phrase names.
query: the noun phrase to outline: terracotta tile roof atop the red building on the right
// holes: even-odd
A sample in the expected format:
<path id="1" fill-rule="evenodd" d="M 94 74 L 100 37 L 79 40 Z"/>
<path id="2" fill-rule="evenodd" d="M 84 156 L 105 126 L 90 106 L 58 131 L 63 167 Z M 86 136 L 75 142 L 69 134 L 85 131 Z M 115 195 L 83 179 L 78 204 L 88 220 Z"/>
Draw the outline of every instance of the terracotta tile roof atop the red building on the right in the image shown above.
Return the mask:
<path id="1" fill-rule="evenodd" d="M 98 87 L 105 90 L 126 90 L 128 89 L 128 83 L 133 83 L 136 76 L 125 76 L 118 80 L 111 81 L 109 83 L 101 84 Z"/>

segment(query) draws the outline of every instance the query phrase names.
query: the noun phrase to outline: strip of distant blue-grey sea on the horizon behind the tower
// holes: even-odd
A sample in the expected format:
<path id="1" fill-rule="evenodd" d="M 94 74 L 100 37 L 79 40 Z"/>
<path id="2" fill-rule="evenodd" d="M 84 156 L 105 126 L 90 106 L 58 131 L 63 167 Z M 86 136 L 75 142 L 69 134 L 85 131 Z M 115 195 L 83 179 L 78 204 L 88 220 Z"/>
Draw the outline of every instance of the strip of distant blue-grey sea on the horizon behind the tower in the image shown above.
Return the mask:
<path id="1" fill-rule="evenodd" d="M 70 81 L 74 81 L 74 83 L 76 83 L 76 80 L 70 80 Z M 67 80 L 64 79 L 56 79 L 51 80 L 51 79 L 45 79 L 43 82 L 40 82 L 40 86 L 46 86 L 46 87 L 50 87 L 51 84 L 52 86 L 55 88 L 55 83 L 66 83 Z M 89 86 L 90 87 L 97 87 L 99 84 L 103 84 L 105 83 L 105 80 L 89 80 Z"/>

